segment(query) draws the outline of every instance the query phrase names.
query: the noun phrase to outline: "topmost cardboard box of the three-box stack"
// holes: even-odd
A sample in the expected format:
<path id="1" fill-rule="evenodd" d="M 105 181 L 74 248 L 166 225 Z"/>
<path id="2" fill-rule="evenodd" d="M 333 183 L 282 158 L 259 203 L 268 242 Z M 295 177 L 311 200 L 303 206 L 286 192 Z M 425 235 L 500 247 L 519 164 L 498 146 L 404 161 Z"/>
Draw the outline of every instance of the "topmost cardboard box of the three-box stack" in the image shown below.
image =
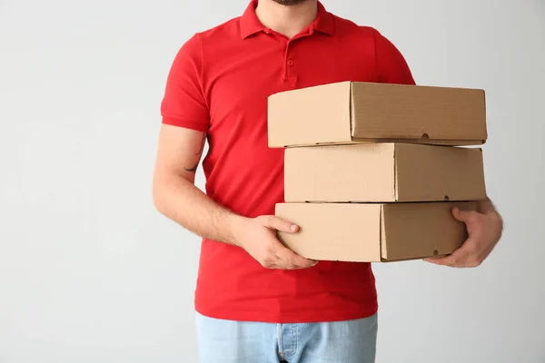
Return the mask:
<path id="1" fill-rule="evenodd" d="M 269 146 L 352 142 L 478 145 L 487 139 L 482 90 L 342 82 L 272 94 Z"/>

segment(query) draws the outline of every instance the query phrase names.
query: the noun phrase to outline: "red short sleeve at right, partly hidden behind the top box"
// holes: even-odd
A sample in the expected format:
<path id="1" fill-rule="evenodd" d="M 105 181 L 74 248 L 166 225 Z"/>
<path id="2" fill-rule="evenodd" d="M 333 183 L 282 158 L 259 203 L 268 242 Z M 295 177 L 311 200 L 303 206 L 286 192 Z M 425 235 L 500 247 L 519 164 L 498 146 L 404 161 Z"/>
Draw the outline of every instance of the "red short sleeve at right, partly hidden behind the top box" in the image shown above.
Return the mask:
<path id="1" fill-rule="evenodd" d="M 411 69 L 401 52 L 378 31 L 375 31 L 374 34 L 379 82 L 414 85 Z"/>

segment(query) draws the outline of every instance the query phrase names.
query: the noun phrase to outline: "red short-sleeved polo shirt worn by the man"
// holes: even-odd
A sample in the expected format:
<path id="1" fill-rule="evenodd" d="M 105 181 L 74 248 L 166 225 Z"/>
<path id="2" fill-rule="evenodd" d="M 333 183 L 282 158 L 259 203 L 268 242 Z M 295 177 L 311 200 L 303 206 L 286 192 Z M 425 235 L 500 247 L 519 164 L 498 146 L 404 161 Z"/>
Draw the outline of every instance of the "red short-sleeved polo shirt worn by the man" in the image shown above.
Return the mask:
<path id="1" fill-rule="evenodd" d="M 274 214 L 283 201 L 283 150 L 267 146 L 267 96 L 341 81 L 414 83 L 400 52 L 371 27 L 319 4 L 312 25 L 288 39 L 263 27 L 256 5 L 183 45 L 162 103 L 163 123 L 207 132 L 206 192 L 246 217 Z M 369 263 L 267 270 L 241 248 L 203 240 L 195 309 L 216 319 L 335 321 L 371 316 L 377 297 Z"/>

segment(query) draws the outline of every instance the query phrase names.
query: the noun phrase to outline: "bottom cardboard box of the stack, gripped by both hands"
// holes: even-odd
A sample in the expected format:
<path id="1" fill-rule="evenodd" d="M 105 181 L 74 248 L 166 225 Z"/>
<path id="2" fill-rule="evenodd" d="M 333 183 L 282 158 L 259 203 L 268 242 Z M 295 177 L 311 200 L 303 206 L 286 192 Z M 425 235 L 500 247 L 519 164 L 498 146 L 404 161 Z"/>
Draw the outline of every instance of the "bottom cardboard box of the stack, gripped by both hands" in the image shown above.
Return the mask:
<path id="1" fill-rule="evenodd" d="M 282 242 L 313 260 L 395 261 L 447 255 L 467 238 L 451 208 L 475 210 L 476 203 L 282 203 L 276 215 L 301 227 L 279 232 Z"/>

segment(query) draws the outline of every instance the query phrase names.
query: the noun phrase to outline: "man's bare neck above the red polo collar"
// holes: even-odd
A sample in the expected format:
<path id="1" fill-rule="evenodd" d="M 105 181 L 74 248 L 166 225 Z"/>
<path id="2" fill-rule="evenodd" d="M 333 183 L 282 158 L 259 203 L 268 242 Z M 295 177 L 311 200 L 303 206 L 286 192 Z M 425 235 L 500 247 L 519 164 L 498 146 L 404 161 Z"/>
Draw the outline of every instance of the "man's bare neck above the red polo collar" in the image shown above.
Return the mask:
<path id="1" fill-rule="evenodd" d="M 292 38 L 310 25 L 318 14 L 317 0 L 299 5 L 280 5 L 272 0 L 259 0 L 255 14 L 263 26 Z"/>

